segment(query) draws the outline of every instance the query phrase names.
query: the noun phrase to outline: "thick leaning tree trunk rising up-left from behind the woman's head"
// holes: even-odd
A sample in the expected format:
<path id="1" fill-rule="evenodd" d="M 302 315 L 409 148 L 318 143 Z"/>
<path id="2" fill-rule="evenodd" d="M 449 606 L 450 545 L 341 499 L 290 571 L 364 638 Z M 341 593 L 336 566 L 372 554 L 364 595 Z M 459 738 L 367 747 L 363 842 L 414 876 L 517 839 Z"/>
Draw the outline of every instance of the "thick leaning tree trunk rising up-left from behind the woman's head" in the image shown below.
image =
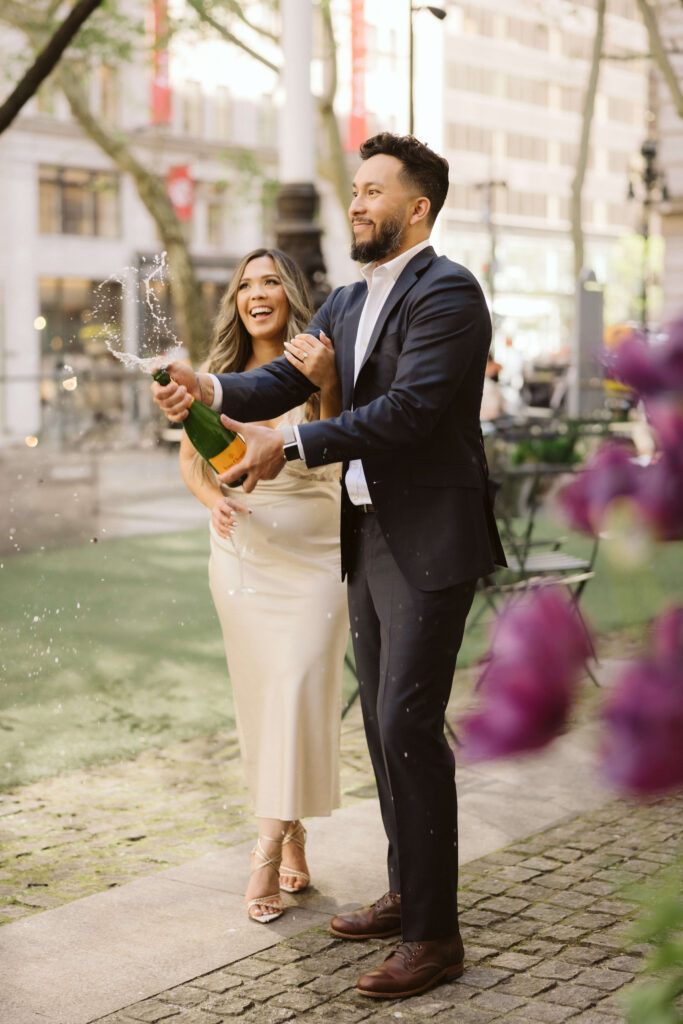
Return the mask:
<path id="1" fill-rule="evenodd" d="M 168 257 L 171 301 L 178 331 L 193 362 L 200 362 L 207 352 L 209 327 L 187 244 L 164 182 L 139 163 L 123 136 L 108 131 L 93 117 L 80 83 L 70 68 L 60 68 L 57 79 L 74 118 L 117 167 L 131 175 L 140 200 L 154 218 Z"/>

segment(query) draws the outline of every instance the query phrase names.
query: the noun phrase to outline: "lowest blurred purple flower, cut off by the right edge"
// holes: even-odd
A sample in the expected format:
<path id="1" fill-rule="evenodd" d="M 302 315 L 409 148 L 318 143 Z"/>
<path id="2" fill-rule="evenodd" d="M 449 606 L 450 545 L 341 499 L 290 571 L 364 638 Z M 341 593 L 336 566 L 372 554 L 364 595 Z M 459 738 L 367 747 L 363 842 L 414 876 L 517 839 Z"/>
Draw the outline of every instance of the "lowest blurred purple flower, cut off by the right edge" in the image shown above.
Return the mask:
<path id="1" fill-rule="evenodd" d="M 651 657 L 631 663 L 602 710 L 606 778 L 635 796 L 683 785 L 683 608 L 655 625 Z"/>

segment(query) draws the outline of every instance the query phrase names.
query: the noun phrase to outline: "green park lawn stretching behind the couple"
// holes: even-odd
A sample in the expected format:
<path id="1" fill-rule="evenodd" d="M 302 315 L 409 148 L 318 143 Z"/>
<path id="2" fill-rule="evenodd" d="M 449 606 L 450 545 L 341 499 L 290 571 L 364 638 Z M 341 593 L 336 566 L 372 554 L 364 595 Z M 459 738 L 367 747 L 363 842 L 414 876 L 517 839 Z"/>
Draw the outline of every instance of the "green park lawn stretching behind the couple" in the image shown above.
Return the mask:
<path id="1" fill-rule="evenodd" d="M 233 726 L 208 554 L 200 528 L 0 558 L 0 788 Z M 628 573 L 601 553 L 583 601 L 591 625 L 645 623 L 683 600 L 682 567 L 680 544 Z M 461 666 L 486 635 L 484 616 Z"/>

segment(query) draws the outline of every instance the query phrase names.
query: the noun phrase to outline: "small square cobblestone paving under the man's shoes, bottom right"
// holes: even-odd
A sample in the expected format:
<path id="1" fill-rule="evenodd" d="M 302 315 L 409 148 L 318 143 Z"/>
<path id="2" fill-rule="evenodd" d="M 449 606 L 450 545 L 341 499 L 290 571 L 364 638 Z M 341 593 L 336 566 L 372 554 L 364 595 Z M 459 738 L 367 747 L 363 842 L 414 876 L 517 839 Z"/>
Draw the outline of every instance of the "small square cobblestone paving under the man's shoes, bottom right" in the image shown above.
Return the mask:
<path id="1" fill-rule="evenodd" d="M 622 1024 L 648 951 L 629 942 L 636 907 L 623 887 L 680 855 L 682 809 L 683 797 L 615 801 L 468 863 L 465 974 L 421 996 L 357 994 L 390 942 L 318 928 L 92 1024 Z"/>

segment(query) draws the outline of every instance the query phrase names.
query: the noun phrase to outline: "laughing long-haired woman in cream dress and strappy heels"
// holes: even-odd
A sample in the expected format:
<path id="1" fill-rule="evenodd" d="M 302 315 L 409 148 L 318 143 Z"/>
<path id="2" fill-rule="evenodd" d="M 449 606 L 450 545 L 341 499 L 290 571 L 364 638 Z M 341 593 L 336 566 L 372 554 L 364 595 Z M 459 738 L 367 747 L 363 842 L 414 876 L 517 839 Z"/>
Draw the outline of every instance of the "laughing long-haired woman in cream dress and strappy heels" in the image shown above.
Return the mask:
<path id="1" fill-rule="evenodd" d="M 205 369 L 241 372 L 287 354 L 285 342 L 310 315 L 296 264 L 273 249 L 249 253 L 221 301 Z M 306 375 L 318 394 L 269 425 L 338 414 L 327 339 L 313 343 Z M 340 582 L 338 470 L 288 463 L 249 496 L 241 487 L 221 490 L 184 434 L 180 468 L 211 510 L 209 580 L 258 819 L 246 900 L 250 918 L 266 923 L 283 912 L 281 888 L 297 892 L 309 881 L 300 819 L 339 806 L 348 613 Z"/>

